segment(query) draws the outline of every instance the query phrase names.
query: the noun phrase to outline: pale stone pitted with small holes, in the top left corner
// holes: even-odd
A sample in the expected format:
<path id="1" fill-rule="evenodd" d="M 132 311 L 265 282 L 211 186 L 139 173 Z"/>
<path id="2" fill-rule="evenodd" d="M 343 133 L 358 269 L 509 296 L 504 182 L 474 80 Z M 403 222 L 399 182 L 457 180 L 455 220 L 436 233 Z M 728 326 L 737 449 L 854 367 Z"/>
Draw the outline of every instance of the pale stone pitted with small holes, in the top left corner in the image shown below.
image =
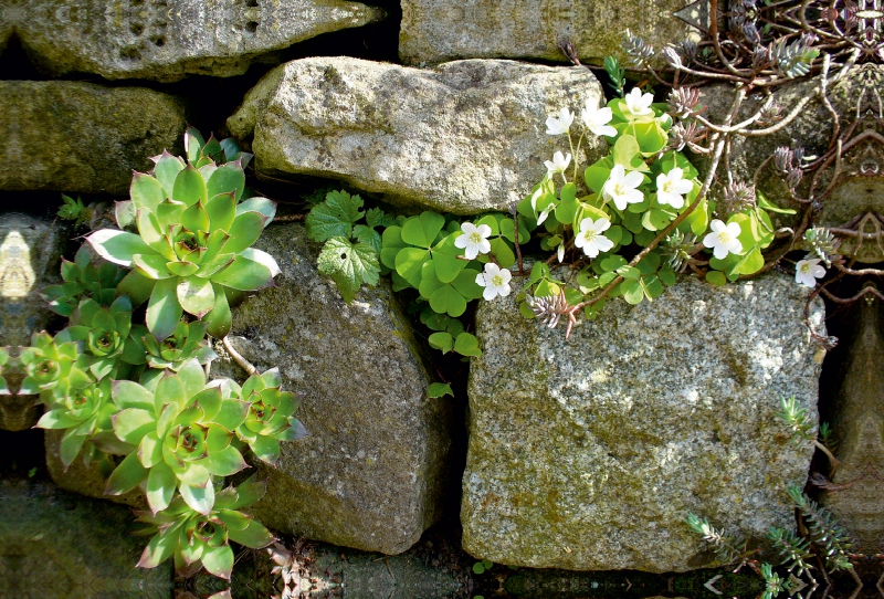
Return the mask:
<path id="1" fill-rule="evenodd" d="M 32 0 L 28 10 L 2 3 L 0 28 L 14 32 L 49 74 L 162 82 L 240 75 L 256 59 L 273 60 L 270 52 L 383 14 L 345 0 Z"/>

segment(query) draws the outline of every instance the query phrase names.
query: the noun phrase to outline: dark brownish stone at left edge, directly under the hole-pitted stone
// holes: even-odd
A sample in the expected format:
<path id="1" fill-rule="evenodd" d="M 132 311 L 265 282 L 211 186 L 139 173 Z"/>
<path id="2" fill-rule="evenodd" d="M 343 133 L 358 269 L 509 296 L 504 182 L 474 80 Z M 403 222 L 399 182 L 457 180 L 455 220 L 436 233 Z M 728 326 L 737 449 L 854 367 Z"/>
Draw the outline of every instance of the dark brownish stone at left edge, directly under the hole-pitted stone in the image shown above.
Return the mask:
<path id="1" fill-rule="evenodd" d="M 0 189 L 127 195 L 133 169 L 181 154 L 183 105 L 144 87 L 0 82 Z"/>

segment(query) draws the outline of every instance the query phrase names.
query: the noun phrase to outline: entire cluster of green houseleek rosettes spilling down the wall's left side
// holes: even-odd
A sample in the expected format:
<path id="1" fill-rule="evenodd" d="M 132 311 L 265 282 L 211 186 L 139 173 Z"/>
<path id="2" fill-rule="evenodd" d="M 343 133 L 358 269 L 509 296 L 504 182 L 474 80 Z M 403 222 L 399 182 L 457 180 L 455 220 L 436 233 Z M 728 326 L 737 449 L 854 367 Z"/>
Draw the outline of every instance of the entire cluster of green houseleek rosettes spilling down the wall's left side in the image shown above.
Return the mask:
<path id="1" fill-rule="evenodd" d="M 273 537 L 240 512 L 263 496 L 264 483 L 219 491 L 220 481 L 246 466 L 243 452 L 272 464 L 280 442 L 306 430 L 294 418 L 298 397 L 281 390 L 276 369 L 242 388 L 206 380 L 203 366 L 217 357 L 206 335 L 231 326 L 228 291 L 267 286 L 278 273 L 270 254 L 251 248 L 275 204 L 245 199 L 251 156 L 233 140 L 188 129 L 185 147 L 187 162 L 156 157 L 149 175 L 135 174 L 131 199 L 118 202 L 118 223 L 137 234 L 95 231 L 87 241 L 106 262 L 94 264 L 85 246 L 63 262 L 63 283 L 43 297 L 67 326 L 54 338 L 34 334 L 18 362 L 21 392 L 39 393 L 48 408 L 36 425 L 64 431 L 65 467 L 82 454 L 113 471 L 106 494 L 147 495 L 150 512 L 139 519 L 156 534 L 139 566 L 173 557 L 186 575 L 204 567 L 230 578 L 229 540 L 260 548 Z M 80 206 L 65 201 L 69 211 Z M 0 372 L 9 362 L 0 348 Z"/>

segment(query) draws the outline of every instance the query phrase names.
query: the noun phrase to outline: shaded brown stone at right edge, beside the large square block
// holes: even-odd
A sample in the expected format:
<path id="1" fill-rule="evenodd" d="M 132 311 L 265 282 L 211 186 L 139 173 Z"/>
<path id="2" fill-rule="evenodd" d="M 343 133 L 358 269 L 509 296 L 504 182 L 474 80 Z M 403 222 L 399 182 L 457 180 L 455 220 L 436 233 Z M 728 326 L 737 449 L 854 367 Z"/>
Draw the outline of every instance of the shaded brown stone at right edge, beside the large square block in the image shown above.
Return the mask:
<path id="1" fill-rule="evenodd" d="M 872 297 L 871 295 L 869 297 Z M 884 328 L 880 301 L 852 307 L 853 343 L 832 423 L 835 458 L 841 462 L 821 503 L 855 539 L 855 550 L 871 555 L 884 549 Z"/>

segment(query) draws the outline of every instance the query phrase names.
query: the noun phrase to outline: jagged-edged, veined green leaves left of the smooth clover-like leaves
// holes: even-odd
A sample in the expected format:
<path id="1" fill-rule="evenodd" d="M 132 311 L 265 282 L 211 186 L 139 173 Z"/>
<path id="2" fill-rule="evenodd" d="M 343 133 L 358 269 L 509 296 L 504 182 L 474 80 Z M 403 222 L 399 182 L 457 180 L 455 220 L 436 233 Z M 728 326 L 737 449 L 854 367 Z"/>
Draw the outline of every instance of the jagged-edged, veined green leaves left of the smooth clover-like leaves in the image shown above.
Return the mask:
<path id="1" fill-rule="evenodd" d="M 362 211 L 362 204 L 359 196 L 328 191 L 305 221 L 307 235 L 325 243 L 319 253 L 319 272 L 337 284 L 348 304 L 364 283 L 378 284 L 381 239 L 376 228 L 394 222 L 379 208 Z M 365 223 L 357 224 L 362 220 Z"/>

